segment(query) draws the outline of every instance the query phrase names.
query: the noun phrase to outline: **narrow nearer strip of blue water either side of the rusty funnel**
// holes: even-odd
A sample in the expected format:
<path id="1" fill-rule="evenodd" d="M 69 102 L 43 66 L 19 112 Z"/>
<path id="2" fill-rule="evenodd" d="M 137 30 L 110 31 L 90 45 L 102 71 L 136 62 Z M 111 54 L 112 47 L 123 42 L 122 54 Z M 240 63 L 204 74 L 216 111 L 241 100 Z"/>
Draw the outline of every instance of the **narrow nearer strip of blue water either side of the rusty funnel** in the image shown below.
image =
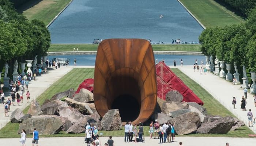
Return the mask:
<path id="1" fill-rule="evenodd" d="M 76 65 L 93 66 L 95 65 L 96 55 L 48 56 L 50 61 L 53 58 L 67 58 L 69 59 L 69 65 L 74 65 L 74 59 L 76 59 Z M 155 59 L 158 59 L 158 62 L 164 59 L 166 65 L 173 65 L 174 60 L 176 61 L 176 65 L 181 65 L 181 59 L 183 60 L 183 65 L 193 65 L 196 59 L 199 64 L 201 64 L 201 60 L 203 60 L 205 64 L 205 57 L 203 55 L 155 55 Z"/>

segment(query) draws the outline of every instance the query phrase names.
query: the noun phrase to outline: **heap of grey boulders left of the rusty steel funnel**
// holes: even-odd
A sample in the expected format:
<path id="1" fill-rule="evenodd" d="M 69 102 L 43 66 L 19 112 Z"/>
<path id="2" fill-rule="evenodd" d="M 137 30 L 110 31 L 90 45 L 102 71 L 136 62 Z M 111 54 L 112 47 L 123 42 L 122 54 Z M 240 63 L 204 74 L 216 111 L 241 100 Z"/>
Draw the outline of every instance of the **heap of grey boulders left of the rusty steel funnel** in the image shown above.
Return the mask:
<path id="1" fill-rule="evenodd" d="M 20 123 L 18 133 L 25 129 L 32 134 L 36 127 L 40 134 L 57 134 L 60 131 L 67 133 L 82 133 L 85 125 L 97 126 L 98 130 L 120 130 L 121 118 L 118 110 L 109 110 L 101 118 L 96 111 L 93 93 L 87 89 L 80 89 L 79 93 L 68 90 L 56 94 L 50 100 L 46 100 L 41 106 L 36 100 L 31 101 L 28 114 L 25 115 L 17 108 L 12 112 L 11 122 Z M 65 95 L 65 101 L 60 96 Z M 64 97 L 65 97 L 64 96 Z"/>

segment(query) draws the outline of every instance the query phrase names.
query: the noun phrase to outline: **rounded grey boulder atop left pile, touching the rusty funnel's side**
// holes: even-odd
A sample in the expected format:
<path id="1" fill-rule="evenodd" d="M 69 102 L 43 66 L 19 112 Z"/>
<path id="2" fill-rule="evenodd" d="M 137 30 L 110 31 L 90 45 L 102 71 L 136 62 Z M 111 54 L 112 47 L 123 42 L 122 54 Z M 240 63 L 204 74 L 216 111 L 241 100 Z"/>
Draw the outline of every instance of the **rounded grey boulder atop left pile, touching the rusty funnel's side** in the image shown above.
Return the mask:
<path id="1" fill-rule="evenodd" d="M 93 101 L 93 93 L 91 93 L 91 91 L 87 90 L 87 89 L 80 89 L 79 93 L 76 93 L 72 99 L 74 99 L 75 101 L 78 102 L 91 102 Z"/>

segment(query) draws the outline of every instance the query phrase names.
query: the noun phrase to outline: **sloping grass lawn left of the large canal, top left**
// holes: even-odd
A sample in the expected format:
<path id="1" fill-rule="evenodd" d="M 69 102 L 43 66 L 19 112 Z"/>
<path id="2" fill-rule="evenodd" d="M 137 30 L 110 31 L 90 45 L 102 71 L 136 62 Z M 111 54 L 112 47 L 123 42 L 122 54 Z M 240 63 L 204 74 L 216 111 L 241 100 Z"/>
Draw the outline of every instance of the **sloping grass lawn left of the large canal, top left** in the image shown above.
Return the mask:
<path id="1" fill-rule="evenodd" d="M 30 3 L 35 3 L 33 7 L 26 8 Z M 29 20 L 38 19 L 47 25 L 52 19 L 70 2 L 71 0 L 31 0 L 29 3 L 22 5 L 18 11 Z M 25 11 L 23 11 L 25 10 Z"/>

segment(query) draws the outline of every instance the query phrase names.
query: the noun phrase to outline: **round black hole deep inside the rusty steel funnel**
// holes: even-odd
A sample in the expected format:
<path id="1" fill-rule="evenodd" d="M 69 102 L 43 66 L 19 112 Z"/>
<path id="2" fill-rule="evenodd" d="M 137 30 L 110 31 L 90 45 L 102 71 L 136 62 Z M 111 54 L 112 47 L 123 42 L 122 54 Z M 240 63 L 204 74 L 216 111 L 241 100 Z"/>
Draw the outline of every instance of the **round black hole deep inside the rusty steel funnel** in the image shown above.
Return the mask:
<path id="1" fill-rule="evenodd" d="M 131 95 L 120 95 L 112 103 L 112 109 L 118 109 L 122 122 L 133 121 L 140 114 L 140 104 Z"/>

